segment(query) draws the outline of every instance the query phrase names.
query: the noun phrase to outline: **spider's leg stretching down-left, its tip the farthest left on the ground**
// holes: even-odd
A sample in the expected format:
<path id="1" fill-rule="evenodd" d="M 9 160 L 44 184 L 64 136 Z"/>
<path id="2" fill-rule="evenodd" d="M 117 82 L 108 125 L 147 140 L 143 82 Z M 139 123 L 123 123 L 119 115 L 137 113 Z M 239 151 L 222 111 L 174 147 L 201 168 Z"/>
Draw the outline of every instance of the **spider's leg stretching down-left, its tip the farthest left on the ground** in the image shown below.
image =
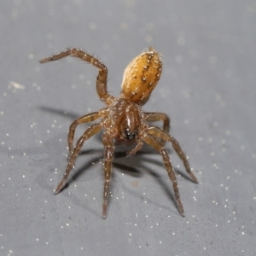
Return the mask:
<path id="1" fill-rule="evenodd" d="M 75 160 L 77 156 L 79 155 L 79 152 L 81 148 L 83 147 L 84 141 L 88 140 L 90 137 L 95 135 L 97 132 L 102 130 L 102 124 L 95 124 L 91 125 L 86 131 L 84 131 L 84 134 L 79 137 L 78 142 L 76 143 L 76 147 L 74 148 L 72 154 L 70 155 L 70 158 L 68 160 L 67 168 L 64 173 L 63 178 L 61 179 L 61 182 L 58 184 L 57 188 L 55 189 L 55 195 L 61 192 L 61 189 L 65 186 L 67 182 L 67 177 L 69 175 L 69 172 L 73 169 Z"/>

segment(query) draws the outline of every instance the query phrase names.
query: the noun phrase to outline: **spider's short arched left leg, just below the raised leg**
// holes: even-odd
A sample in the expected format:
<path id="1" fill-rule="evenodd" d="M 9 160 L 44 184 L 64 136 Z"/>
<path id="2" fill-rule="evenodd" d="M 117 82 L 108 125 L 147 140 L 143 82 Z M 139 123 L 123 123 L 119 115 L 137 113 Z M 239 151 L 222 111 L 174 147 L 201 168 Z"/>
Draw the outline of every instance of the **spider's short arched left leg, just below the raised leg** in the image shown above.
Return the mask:
<path id="1" fill-rule="evenodd" d="M 70 154 L 73 152 L 73 137 L 74 137 L 74 133 L 75 133 L 77 126 L 80 124 L 92 122 L 100 117 L 101 117 L 101 115 L 99 112 L 92 112 L 92 113 L 87 113 L 87 114 L 83 115 L 82 117 L 79 117 L 79 119 L 76 119 L 73 121 L 73 123 L 69 127 L 69 132 L 68 132 L 68 136 L 67 136 L 67 143 L 68 143 L 68 148 L 69 148 Z"/>

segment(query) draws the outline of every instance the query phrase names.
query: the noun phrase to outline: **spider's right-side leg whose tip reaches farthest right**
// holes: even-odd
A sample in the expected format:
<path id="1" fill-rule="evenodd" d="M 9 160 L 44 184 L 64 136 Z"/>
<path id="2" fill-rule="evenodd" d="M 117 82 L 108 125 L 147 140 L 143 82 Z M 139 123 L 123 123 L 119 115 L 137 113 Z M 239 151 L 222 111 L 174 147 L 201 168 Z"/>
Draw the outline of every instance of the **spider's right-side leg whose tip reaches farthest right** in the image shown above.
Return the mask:
<path id="1" fill-rule="evenodd" d="M 163 131 L 159 127 L 156 127 L 156 126 L 148 128 L 148 133 L 154 135 L 155 137 L 160 137 L 162 140 L 165 140 L 167 142 L 171 142 L 172 147 L 176 151 L 177 155 L 179 156 L 179 158 L 181 160 L 183 160 L 183 165 L 185 166 L 186 171 L 189 173 L 189 176 L 195 183 L 198 183 L 197 178 L 195 177 L 195 174 L 190 169 L 189 161 L 187 160 L 187 156 L 186 156 L 186 154 L 184 154 L 183 149 L 180 147 L 177 140 L 174 137 L 172 137 L 170 134 L 168 134 L 166 131 Z"/>

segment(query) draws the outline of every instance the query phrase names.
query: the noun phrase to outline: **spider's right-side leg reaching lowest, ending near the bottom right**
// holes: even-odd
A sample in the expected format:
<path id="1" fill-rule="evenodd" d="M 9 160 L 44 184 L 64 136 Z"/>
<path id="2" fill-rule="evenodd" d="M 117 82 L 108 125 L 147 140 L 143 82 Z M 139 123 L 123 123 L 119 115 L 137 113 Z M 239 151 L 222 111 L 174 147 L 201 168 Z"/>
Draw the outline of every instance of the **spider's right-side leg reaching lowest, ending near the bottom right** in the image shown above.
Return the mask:
<path id="1" fill-rule="evenodd" d="M 178 211 L 180 212 L 180 214 L 182 216 L 184 216 L 183 204 L 180 200 L 178 187 L 177 187 L 177 179 L 175 177 L 175 173 L 174 173 L 173 168 L 172 168 L 172 163 L 170 161 L 170 158 L 169 158 L 169 155 L 166 151 L 166 148 L 164 148 L 162 146 L 162 144 L 160 143 L 160 141 L 156 137 L 154 137 L 154 135 L 152 135 L 152 134 L 146 133 L 143 136 L 143 140 L 145 141 L 145 143 L 148 143 L 148 145 L 155 148 L 161 154 L 161 156 L 163 158 L 163 161 L 164 161 L 164 164 L 166 166 L 166 171 L 168 172 L 168 176 L 172 181 L 172 187 L 173 187 L 173 190 L 174 190 L 174 196 L 175 196 L 175 200 L 177 202 Z"/>

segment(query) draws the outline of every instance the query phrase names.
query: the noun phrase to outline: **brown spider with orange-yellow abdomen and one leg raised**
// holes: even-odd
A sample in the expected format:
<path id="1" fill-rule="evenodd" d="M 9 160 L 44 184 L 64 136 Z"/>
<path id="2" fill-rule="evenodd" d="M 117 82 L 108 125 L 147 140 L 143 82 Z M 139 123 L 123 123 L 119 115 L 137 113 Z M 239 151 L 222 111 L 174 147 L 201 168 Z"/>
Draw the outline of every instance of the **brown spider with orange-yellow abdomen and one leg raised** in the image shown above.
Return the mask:
<path id="1" fill-rule="evenodd" d="M 183 153 L 177 140 L 168 133 L 170 129 L 170 119 L 166 113 L 145 113 L 142 108 L 142 105 L 148 101 L 152 90 L 154 90 L 155 85 L 160 79 L 162 71 L 160 54 L 150 47 L 148 51 L 137 55 L 137 57 L 131 61 L 125 68 L 123 83 L 121 85 L 122 90 L 120 96 L 117 98 L 108 94 L 107 67 L 101 61 L 97 60 L 96 57 L 87 54 L 81 49 L 67 49 L 57 55 L 45 58 L 40 62 L 56 61 L 69 55 L 89 62 L 99 69 L 99 74 L 96 79 L 96 90 L 102 102 L 106 103 L 107 108 L 102 108 L 97 112 L 87 113 L 73 121 L 72 125 L 70 125 L 67 137 L 70 158 L 64 177 L 55 189 L 55 194 L 58 194 L 65 186 L 69 172 L 73 169 L 75 160 L 79 155 L 84 141 L 104 129 L 105 131 L 102 136 L 105 150 L 103 218 L 107 217 L 108 212 L 108 190 L 112 172 L 114 146 L 119 144 L 131 145 L 132 143 L 137 143 L 137 145 L 131 149 L 127 155 L 136 154 L 137 151 L 143 147 L 143 143 L 148 143 L 148 145 L 155 148 L 161 154 L 168 176 L 172 181 L 178 211 L 184 216 L 175 173 L 166 148 L 164 148 L 166 142 L 172 143 L 172 147 L 175 149 L 180 159 L 183 160 L 183 164 L 191 179 L 195 183 L 197 183 L 197 179 L 193 172 L 191 172 L 186 155 Z M 92 122 L 96 119 L 101 120 L 84 131 L 84 134 L 79 137 L 78 142 L 73 148 L 73 137 L 77 125 Z M 160 120 L 163 121 L 163 129 L 148 125 L 148 121 L 154 122 Z"/>

